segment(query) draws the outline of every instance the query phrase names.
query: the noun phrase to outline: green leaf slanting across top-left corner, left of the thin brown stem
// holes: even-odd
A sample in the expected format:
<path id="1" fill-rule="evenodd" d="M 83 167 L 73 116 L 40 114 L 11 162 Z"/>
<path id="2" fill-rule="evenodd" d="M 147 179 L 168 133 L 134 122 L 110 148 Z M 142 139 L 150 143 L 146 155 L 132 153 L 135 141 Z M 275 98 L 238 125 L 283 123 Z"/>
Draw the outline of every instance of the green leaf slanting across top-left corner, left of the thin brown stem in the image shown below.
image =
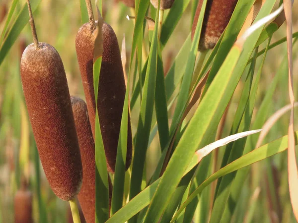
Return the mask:
<path id="1" fill-rule="evenodd" d="M 31 0 L 31 9 L 34 12 L 39 5 L 41 0 Z M 0 48 L 0 65 L 3 62 L 6 54 L 9 52 L 10 48 L 16 41 L 17 37 L 20 35 L 22 29 L 25 25 L 29 22 L 29 14 L 27 3 L 24 4 L 22 10 L 18 14 L 15 22 L 13 23 L 12 27 L 10 28 L 9 32 L 7 33 L 5 39 L 3 40 L 2 46 Z"/>

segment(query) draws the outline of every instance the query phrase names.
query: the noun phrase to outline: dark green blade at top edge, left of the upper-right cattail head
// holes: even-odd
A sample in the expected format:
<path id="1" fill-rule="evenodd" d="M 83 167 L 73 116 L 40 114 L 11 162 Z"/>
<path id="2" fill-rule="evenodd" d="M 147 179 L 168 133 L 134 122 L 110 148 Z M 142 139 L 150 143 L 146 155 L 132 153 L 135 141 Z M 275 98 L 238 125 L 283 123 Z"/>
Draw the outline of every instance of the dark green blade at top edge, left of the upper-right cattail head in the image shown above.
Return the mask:
<path id="1" fill-rule="evenodd" d="M 176 0 L 174 1 L 164 23 L 160 35 L 161 49 L 165 46 L 170 36 L 172 35 L 177 23 L 179 22 L 183 12 L 185 11 L 190 0 Z"/>

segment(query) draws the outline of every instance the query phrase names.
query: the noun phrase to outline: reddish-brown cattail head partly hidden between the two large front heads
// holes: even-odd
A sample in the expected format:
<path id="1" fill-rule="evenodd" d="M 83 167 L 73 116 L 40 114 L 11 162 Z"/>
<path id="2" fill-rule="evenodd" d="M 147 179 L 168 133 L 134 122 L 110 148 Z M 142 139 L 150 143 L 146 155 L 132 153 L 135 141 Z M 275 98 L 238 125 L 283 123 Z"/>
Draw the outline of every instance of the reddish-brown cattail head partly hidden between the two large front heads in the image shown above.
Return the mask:
<path id="1" fill-rule="evenodd" d="M 71 101 L 83 166 L 83 182 L 77 198 L 87 222 L 95 222 L 95 145 L 86 103 L 74 96 L 71 97 Z M 110 204 L 112 190 L 109 178 Z"/>

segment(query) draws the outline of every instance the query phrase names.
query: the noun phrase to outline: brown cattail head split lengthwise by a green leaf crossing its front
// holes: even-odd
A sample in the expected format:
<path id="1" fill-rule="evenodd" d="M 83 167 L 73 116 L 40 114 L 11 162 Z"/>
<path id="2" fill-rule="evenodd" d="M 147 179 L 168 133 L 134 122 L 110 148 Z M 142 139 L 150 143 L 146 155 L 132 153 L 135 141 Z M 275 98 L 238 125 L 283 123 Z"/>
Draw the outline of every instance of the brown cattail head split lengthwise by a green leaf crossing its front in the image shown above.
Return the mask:
<path id="1" fill-rule="evenodd" d="M 107 23 L 103 24 L 102 32 L 104 52 L 99 77 L 97 109 L 108 171 L 114 172 L 126 88 L 117 37 L 112 27 Z M 89 23 L 85 23 L 76 35 L 75 49 L 94 137 L 93 43 L 94 34 L 90 30 Z M 132 159 L 130 117 L 127 140 L 126 169 L 130 166 Z"/>

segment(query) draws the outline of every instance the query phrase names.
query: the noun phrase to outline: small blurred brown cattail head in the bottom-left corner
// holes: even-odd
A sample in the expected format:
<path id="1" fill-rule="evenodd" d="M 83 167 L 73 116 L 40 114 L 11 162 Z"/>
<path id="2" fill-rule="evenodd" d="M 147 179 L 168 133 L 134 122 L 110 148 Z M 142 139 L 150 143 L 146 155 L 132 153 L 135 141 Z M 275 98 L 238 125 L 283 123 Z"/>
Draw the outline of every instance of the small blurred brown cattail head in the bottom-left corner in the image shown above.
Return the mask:
<path id="1" fill-rule="evenodd" d="M 14 196 L 14 223 L 33 223 L 32 193 L 27 189 L 20 189 Z"/>

